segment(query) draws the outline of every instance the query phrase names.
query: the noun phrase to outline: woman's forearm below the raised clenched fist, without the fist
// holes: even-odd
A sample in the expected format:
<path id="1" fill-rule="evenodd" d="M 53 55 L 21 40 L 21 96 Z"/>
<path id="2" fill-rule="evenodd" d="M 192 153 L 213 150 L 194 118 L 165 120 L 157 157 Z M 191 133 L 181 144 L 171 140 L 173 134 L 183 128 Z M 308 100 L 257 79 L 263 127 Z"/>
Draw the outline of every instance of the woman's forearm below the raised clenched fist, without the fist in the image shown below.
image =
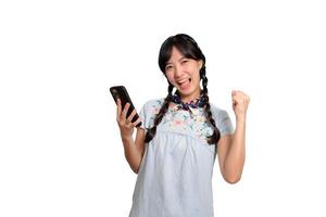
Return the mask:
<path id="1" fill-rule="evenodd" d="M 237 118 L 234 139 L 225 158 L 224 171 L 230 182 L 237 182 L 241 178 L 246 157 L 246 117 Z"/>

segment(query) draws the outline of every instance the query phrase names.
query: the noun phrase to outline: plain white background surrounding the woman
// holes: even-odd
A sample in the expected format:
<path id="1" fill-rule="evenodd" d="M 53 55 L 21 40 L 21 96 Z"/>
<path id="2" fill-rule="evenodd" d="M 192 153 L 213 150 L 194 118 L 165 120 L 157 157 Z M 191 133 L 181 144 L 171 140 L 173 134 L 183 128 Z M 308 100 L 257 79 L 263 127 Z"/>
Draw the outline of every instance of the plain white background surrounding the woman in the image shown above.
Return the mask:
<path id="1" fill-rule="evenodd" d="M 211 101 L 251 97 L 237 184 L 215 216 L 325 216 L 324 1 L 1 1 L 0 216 L 127 216 L 136 175 L 109 93 L 165 97 L 165 38 L 192 36 Z"/>

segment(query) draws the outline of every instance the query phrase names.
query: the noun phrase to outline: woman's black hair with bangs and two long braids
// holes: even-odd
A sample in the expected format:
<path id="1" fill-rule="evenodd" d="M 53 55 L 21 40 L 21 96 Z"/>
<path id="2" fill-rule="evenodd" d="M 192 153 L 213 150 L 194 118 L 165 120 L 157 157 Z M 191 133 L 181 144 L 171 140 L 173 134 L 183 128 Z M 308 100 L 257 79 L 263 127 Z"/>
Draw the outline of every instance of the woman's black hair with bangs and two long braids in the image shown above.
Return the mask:
<path id="1" fill-rule="evenodd" d="M 192 59 L 196 61 L 201 60 L 203 62 L 202 68 L 200 69 L 200 79 L 202 80 L 202 94 L 204 98 L 204 107 L 205 107 L 205 114 L 206 118 L 210 120 L 212 127 L 213 127 L 213 135 L 208 137 L 208 143 L 209 144 L 217 144 L 220 140 L 220 130 L 217 129 L 215 125 L 215 120 L 212 117 L 211 112 L 211 105 L 209 100 L 209 90 L 208 90 L 208 82 L 209 79 L 206 77 L 206 71 L 205 71 L 205 56 L 201 52 L 199 46 L 197 42 L 188 35 L 186 34 L 178 34 L 175 36 L 168 37 L 161 46 L 160 54 L 159 54 L 159 66 L 162 73 L 165 75 L 165 66 L 167 61 L 170 60 L 172 55 L 172 49 L 175 47 L 185 58 Z M 166 75 L 165 75 L 166 77 Z M 167 79 L 167 78 L 166 78 Z M 164 99 L 163 105 L 160 110 L 160 112 L 156 114 L 154 118 L 154 126 L 152 128 L 149 128 L 146 133 L 145 142 L 150 142 L 153 137 L 156 133 L 156 126 L 161 123 L 164 114 L 167 112 L 170 102 L 173 98 L 173 88 L 174 86 L 168 81 L 168 88 L 167 88 L 167 97 Z"/>

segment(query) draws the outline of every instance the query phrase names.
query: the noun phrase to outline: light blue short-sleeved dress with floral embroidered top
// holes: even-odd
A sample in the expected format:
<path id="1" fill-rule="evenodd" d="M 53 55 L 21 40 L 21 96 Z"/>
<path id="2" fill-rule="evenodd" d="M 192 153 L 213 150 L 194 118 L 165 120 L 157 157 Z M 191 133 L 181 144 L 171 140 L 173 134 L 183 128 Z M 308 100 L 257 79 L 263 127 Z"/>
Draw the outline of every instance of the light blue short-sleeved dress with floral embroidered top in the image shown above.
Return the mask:
<path id="1" fill-rule="evenodd" d="M 141 128 L 153 126 L 163 102 L 150 100 L 142 106 Z M 155 137 L 145 144 L 129 217 L 212 217 L 215 145 L 206 137 L 213 129 L 204 108 L 186 111 L 170 104 Z M 221 135 L 233 133 L 228 113 L 210 105 Z"/>

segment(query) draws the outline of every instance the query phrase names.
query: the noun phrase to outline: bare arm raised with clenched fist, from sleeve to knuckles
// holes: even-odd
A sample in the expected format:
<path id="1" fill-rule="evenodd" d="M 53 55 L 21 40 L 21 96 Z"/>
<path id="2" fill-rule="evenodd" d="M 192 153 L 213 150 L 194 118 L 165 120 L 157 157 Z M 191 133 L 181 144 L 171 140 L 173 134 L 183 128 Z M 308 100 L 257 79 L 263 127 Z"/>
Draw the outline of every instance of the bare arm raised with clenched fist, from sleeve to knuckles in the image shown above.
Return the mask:
<path id="1" fill-rule="evenodd" d="M 228 183 L 236 183 L 241 178 L 244 165 L 246 117 L 250 98 L 241 91 L 233 91 L 231 97 L 236 130 L 234 135 L 221 137 L 217 153 L 223 178 Z"/>

